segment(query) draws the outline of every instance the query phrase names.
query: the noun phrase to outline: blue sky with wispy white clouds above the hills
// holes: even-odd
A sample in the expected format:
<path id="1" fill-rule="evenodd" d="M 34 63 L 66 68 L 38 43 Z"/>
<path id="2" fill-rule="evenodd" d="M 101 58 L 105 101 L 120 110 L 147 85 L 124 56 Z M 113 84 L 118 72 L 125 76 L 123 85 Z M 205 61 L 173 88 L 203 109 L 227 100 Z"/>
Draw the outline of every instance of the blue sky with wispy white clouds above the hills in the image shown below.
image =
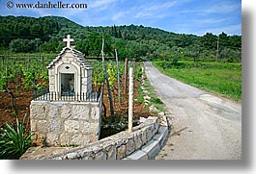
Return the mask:
<path id="1" fill-rule="evenodd" d="M 83 26 L 144 25 L 178 34 L 242 35 L 241 0 L 62 0 L 85 3 L 87 9 L 8 9 L 0 0 L 0 15 L 64 16 Z M 12 0 L 38 3 L 39 0 Z M 48 2 L 41 0 L 40 3 Z M 57 3 L 58 0 L 51 0 Z"/>

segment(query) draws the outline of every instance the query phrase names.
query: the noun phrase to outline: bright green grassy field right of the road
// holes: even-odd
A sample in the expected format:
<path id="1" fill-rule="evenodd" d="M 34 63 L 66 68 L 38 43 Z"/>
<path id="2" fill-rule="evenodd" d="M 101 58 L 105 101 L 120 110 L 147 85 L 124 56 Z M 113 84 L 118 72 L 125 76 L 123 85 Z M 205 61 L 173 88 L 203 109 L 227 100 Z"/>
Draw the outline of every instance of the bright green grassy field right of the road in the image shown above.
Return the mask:
<path id="1" fill-rule="evenodd" d="M 242 100 L 242 64 L 224 62 L 153 62 L 163 74 L 229 99 Z"/>

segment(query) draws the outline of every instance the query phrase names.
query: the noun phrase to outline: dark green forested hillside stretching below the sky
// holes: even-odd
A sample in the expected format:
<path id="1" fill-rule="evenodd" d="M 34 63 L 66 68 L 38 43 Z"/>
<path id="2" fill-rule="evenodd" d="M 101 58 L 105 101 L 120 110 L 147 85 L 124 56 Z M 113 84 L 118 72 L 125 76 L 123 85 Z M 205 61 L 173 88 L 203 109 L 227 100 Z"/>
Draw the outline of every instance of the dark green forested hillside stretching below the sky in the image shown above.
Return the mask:
<path id="1" fill-rule="evenodd" d="M 85 56 L 100 56 L 102 33 L 105 37 L 104 51 L 110 57 L 116 48 L 121 59 L 147 56 L 171 61 L 241 62 L 242 36 L 222 33 L 218 37 L 207 33 L 199 37 L 142 25 L 84 27 L 59 16 L 0 16 L 1 53 L 8 50 L 57 53 L 64 46 L 63 37 L 71 34 L 75 48 Z"/>

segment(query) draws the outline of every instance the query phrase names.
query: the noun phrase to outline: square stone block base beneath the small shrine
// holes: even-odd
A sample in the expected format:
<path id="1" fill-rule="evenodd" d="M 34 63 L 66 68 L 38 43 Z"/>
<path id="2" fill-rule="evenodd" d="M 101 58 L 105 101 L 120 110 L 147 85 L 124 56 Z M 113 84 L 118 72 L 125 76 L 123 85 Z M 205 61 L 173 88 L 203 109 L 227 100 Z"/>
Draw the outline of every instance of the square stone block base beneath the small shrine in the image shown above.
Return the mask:
<path id="1" fill-rule="evenodd" d="M 99 140 L 100 102 L 32 101 L 32 140 L 51 146 L 85 145 Z"/>

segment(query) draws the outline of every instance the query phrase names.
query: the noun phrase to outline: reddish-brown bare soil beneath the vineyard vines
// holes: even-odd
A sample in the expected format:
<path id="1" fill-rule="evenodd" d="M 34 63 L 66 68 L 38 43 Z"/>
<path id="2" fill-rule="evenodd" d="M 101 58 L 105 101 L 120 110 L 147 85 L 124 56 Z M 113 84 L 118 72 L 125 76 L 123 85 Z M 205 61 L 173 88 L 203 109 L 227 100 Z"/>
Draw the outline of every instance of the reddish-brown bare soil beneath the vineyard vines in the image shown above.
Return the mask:
<path id="1" fill-rule="evenodd" d="M 139 87 L 139 84 L 139 81 L 134 81 L 134 98 L 138 96 L 136 93 L 136 88 Z M 30 102 L 33 99 L 33 89 L 25 89 L 24 87 L 20 87 L 19 91 L 17 91 L 14 83 L 10 83 L 9 87 L 14 92 L 15 105 L 14 109 L 12 109 L 11 95 L 7 92 L 0 91 L 0 127 L 3 127 L 5 123 L 15 124 L 16 117 L 19 119 L 19 121 L 22 120 L 25 114 L 27 114 L 27 117 L 29 117 Z M 119 104 L 117 89 L 112 91 L 112 95 L 114 99 L 115 116 L 118 117 L 128 115 L 128 97 L 125 98 L 125 92 L 122 93 L 123 100 L 121 104 Z M 107 97 L 106 86 L 104 87 L 103 104 L 107 109 L 106 116 L 109 117 L 109 100 Z M 102 111 L 102 113 L 104 113 L 104 111 Z M 152 113 L 149 112 L 144 104 L 134 101 L 134 117 L 148 117 L 150 115 L 152 115 Z"/>

